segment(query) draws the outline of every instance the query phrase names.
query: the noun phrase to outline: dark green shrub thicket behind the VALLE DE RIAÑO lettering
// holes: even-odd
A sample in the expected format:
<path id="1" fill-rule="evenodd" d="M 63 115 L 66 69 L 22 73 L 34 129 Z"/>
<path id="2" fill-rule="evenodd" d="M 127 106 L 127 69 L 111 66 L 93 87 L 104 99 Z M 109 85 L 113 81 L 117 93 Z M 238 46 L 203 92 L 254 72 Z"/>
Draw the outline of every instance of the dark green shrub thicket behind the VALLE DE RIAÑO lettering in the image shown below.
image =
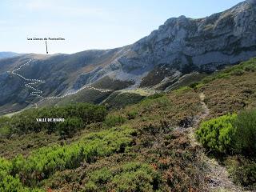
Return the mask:
<path id="1" fill-rule="evenodd" d="M 65 122 L 38 122 L 40 118 L 64 118 Z M 106 107 L 88 103 L 77 103 L 68 106 L 54 106 L 42 109 L 25 110 L 8 120 L 12 133 L 28 134 L 46 130 L 58 132 L 61 136 L 71 136 L 82 127 L 102 122 L 106 118 Z"/>

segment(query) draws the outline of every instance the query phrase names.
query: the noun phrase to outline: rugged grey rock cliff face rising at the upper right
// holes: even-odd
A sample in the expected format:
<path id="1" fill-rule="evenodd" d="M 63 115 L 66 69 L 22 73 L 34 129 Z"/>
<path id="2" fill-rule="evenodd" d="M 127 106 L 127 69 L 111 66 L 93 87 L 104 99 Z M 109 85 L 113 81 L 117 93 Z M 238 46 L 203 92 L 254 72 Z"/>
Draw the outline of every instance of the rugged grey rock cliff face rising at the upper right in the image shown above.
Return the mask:
<path id="1" fill-rule="evenodd" d="M 256 0 L 239 3 L 207 18 L 170 18 L 158 30 L 134 43 L 133 57 L 122 57 L 124 69 L 173 66 L 177 70 L 214 71 L 256 56 Z"/>

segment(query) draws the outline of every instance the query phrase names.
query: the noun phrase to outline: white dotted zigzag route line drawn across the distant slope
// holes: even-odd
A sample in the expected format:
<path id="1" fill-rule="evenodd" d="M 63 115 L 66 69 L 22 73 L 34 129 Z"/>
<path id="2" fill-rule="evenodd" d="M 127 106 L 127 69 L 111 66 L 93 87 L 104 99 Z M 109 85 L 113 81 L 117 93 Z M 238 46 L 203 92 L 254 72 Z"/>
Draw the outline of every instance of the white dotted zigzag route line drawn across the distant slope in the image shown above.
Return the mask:
<path id="1" fill-rule="evenodd" d="M 19 78 L 22 78 L 24 79 L 25 81 L 29 82 L 29 83 L 26 83 L 25 86 L 30 88 L 31 90 L 34 90 L 32 91 L 30 94 L 33 95 L 33 96 L 36 96 L 38 98 L 46 98 L 46 99 L 54 99 L 54 98 L 66 98 L 67 96 L 71 95 L 71 94 L 77 94 L 78 92 L 80 92 L 81 90 L 85 90 L 85 89 L 90 89 L 90 90 L 98 90 L 102 93 L 107 93 L 107 92 L 111 92 L 113 90 L 105 90 L 105 89 L 98 89 L 98 88 L 95 88 L 93 86 L 83 86 L 81 89 L 79 90 L 76 90 L 75 92 L 71 92 L 69 94 L 64 94 L 62 96 L 56 96 L 56 97 L 42 97 L 42 90 L 38 90 L 36 88 L 34 88 L 34 86 L 36 86 L 36 84 L 38 83 L 45 83 L 44 81 L 40 80 L 40 79 L 35 79 L 35 78 L 25 78 L 23 77 L 21 74 L 18 74 L 18 73 L 15 73 L 15 71 L 18 71 L 18 70 L 21 70 L 22 67 L 30 64 L 30 62 L 33 61 L 33 58 L 30 59 L 29 62 L 26 62 L 25 64 L 23 64 L 22 66 L 19 66 L 16 70 L 13 70 L 13 71 L 7 71 L 7 73 L 10 73 L 10 74 L 14 74 L 16 76 L 18 76 Z"/>

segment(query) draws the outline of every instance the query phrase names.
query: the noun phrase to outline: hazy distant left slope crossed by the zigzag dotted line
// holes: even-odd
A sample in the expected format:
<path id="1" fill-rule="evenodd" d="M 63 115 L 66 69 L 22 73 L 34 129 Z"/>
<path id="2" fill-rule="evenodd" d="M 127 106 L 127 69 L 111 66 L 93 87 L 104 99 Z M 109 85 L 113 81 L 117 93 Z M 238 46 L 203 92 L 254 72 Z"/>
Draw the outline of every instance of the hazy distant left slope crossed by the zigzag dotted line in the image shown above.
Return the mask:
<path id="1" fill-rule="evenodd" d="M 47 98 L 77 92 L 85 84 L 95 82 L 91 79 L 97 79 L 94 74 L 106 66 L 106 63 L 111 62 L 119 51 L 120 49 L 88 50 L 71 55 L 26 54 L 2 59 L 0 60 L 0 66 L 2 66 L 0 69 L 0 110 L 2 112 L 18 110 L 30 103 L 38 102 L 40 98 L 35 97 L 33 92 L 37 92 L 36 94 L 40 97 Z M 31 83 L 30 79 L 38 83 L 26 86 Z M 102 80 L 105 86 L 98 82 L 95 87 L 107 88 L 106 86 L 112 84 L 108 88 L 116 90 L 123 89 L 132 83 L 115 81 L 107 77 Z M 90 89 L 87 92 L 90 92 Z M 97 94 L 96 91 L 95 95 Z M 56 99 L 57 102 L 58 100 Z M 88 99 L 85 101 L 94 102 Z"/>

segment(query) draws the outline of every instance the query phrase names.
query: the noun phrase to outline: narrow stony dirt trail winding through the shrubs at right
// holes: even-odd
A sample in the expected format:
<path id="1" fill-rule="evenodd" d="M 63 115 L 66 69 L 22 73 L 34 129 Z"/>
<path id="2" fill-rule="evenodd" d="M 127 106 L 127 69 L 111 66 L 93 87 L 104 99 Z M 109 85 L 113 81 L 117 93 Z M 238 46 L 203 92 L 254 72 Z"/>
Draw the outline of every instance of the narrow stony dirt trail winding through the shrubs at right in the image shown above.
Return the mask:
<path id="1" fill-rule="evenodd" d="M 198 118 L 194 121 L 194 126 L 190 127 L 190 141 L 192 146 L 200 146 L 201 144 L 197 142 L 194 131 L 199 126 L 199 123 L 205 119 L 210 114 L 210 109 L 204 102 L 205 94 L 199 94 L 203 112 Z M 243 191 L 240 186 L 236 186 L 231 179 L 229 174 L 224 166 L 219 165 L 215 158 L 209 158 L 206 154 L 201 154 L 202 161 L 205 162 L 208 174 L 206 179 L 208 181 L 208 186 L 211 191 Z"/>

